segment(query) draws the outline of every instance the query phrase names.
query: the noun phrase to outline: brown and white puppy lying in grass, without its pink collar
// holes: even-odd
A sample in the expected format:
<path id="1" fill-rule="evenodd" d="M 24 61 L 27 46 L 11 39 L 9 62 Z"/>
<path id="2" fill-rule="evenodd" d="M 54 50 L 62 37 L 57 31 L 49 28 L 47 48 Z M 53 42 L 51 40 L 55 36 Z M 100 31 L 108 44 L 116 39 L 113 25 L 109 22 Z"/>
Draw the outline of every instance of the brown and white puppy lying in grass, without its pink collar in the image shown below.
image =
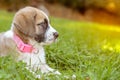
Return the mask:
<path id="1" fill-rule="evenodd" d="M 19 42 L 14 40 L 15 35 L 24 44 L 32 45 L 35 50 L 19 50 Z M 42 73 L 53 72 L 54 69 L 46 64 L 43 45 L 51 44 L 57 37 L 57 31 L 52 28 L 44 12 L 33 7 L 25 7 L 15 14 L 11 29 L 0 34 L 0 56 L 17 55 L 17 60 L 27 63 L 29 69 L 40 69 Z M 60 74 L 58 71 L 54 73 Z"/>

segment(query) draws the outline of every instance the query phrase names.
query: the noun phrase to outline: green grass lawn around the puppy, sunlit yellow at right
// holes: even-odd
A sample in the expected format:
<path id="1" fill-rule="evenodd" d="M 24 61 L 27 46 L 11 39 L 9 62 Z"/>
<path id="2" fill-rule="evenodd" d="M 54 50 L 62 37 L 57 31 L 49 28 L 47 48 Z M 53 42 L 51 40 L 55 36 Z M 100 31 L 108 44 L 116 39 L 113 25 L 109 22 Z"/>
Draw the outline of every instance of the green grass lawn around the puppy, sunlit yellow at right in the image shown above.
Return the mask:
<path id="1" fill-rule="evenodd" d="M 0 11 L 0 32 L 10 29 L 13 15 Z M 60 36 L 45 47 L 46 59 L 62 75 L 41 75 L 40 80 L 120 80 L 119 26 L 54 17 L 51 24 Z M 37 80 L 24 66 L 10 56 L 0 58 L 0 80 Z"/>

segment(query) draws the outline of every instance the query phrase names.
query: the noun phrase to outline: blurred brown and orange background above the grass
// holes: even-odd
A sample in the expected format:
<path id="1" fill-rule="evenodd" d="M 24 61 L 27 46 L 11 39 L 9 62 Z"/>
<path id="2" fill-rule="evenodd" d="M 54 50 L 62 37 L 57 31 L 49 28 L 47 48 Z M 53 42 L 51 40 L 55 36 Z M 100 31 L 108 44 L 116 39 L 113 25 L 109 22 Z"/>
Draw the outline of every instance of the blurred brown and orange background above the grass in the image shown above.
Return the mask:
<path id="1" fill-rule="evenodd" d="M 0 10 L 9 12 L 28 5 L 50 16 L 120 25 L 120 0 L 0 0 Z"/>

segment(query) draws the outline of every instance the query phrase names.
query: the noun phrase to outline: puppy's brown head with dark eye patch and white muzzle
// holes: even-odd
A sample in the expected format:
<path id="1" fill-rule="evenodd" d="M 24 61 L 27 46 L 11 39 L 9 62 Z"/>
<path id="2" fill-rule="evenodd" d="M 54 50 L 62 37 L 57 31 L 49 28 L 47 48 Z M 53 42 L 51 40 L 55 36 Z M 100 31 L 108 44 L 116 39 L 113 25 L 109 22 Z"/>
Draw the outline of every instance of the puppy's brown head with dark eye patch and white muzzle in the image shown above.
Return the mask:
<path id="1" fill-rule="evenodd" d="M 50 44 L 58 37 L 57 31 L 52 28 L 47 15 L 39 9 L 25 7 L 19 10 L 13 19 L 13 31 L 25 43 L 32 39 L 37 43 Z"/>

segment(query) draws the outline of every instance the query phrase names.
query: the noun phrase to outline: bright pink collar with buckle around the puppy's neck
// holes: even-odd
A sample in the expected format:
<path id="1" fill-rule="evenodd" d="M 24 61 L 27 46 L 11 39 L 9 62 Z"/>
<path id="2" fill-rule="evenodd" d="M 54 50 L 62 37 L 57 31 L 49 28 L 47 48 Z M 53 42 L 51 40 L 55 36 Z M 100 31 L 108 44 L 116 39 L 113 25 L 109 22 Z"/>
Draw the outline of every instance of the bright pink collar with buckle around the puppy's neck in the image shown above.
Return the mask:
<path id="1" fill-rule="evenodd" d="M 18 49 L 23 53 L 32 53 L 34 48 L 30 44 L 25 44 L 17 35 L 14 34 L 13 40 L 17 44 Z"/>

